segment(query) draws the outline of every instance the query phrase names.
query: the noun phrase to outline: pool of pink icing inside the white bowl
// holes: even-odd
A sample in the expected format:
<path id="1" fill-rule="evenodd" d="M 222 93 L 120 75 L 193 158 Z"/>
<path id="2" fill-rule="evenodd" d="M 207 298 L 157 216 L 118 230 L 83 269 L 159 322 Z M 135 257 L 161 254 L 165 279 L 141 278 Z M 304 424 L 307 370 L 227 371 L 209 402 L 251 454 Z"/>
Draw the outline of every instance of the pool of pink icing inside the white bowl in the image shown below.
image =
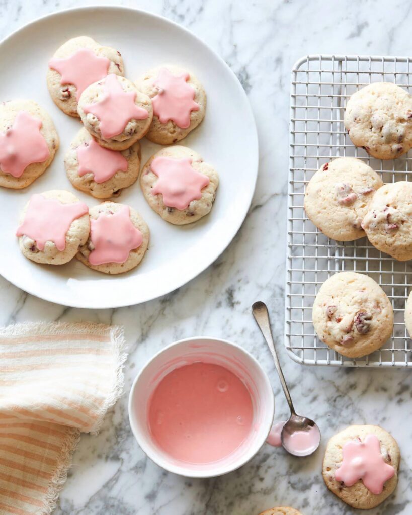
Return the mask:
<path id="1" fill-rule="evenodd" d="M 228 369 L 192 363 L 168 373 L 149 403 L 153 439 L 171 457 L 203 464 L 232 454 L 252 431 L 253 407 Z"/>

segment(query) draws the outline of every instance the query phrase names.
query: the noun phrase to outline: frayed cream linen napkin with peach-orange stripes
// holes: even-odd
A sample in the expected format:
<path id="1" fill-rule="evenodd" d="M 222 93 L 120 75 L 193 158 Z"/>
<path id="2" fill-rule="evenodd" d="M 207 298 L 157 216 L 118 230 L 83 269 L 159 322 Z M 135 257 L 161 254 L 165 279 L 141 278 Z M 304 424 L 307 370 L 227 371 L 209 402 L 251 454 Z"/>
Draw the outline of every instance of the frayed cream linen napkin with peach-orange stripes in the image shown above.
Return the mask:
<path id="1" fill-rule="evenodd" d="M 25 323 L 0 329 L 0 514 L 53 511 L 80 432 L 123 390 L 119 328 Z"/>

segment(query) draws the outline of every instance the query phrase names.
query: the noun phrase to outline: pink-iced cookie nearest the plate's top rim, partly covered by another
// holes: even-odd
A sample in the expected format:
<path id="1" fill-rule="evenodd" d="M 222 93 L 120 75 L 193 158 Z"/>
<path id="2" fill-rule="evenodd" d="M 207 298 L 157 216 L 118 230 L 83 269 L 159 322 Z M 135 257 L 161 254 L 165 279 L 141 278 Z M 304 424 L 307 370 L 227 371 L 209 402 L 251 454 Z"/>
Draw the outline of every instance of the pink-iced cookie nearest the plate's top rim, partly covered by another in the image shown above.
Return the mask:
<path id="1" fill-rule="evenodd" d="M 109 73 L 123 76 L 123 59 L 117 50 L 94 39 L 79 36 L 66 41 L 48 63 L 47 87 L 56 105 L 66 114 L 79 116 L 82 91 Z"/>

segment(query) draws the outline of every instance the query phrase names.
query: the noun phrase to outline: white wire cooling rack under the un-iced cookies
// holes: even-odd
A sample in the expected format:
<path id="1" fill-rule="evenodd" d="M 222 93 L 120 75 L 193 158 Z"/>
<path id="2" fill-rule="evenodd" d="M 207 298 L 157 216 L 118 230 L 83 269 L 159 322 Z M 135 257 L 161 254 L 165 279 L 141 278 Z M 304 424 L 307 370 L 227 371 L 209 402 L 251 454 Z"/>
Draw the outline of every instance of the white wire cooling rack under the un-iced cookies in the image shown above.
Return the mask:
<path id="1" fill-rule="evenodd" d="M 408 180 L 412 158 L 381 161 L 352 144 L 344 127 L 346 100 L 371 82 L 394 82 L 412 92 L 412 58 L 307 56 L 292 70 L 288 187 L 285 345 L 307 365 L 412 367 L 404 309 L 412 284 L 412 262 L 399 262 L 365 238 L 339 243 L 322 234 L 305 215 L 305 184 L 333 158 L 351 156 L 381 173 L 384 182 Z M 412 153 L 412 151 L 411 151 Z M 409 168 L 411 170 L 409 171 Z M 322 283 L 335 272 L 366 273 L 392 302 L 391 338 L 378 351 L 347 358 L 324 345 L 312 324 L 312 305 Z"/>

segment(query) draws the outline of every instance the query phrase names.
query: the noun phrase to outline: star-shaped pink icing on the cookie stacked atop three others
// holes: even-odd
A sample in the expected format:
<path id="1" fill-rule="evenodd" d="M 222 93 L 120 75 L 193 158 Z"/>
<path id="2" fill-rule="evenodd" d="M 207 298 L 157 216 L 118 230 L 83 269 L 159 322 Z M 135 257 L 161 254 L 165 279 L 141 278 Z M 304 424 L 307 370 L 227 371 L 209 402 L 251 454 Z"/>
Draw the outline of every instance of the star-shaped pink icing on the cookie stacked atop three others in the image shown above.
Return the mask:
<path id="1" fill-rule="evenodd" d="M 113 138 L 123 132 L 132 118 L 143 120 L 149 116 L 146 109 L 135 105 L 136 92 L 124 91 L 113 73 L 105 79 L 104 87 L 105 96 L 100 101 L 83 107 L 85 113 L 92 113 L 100 120 L 103 138 Z"/>

